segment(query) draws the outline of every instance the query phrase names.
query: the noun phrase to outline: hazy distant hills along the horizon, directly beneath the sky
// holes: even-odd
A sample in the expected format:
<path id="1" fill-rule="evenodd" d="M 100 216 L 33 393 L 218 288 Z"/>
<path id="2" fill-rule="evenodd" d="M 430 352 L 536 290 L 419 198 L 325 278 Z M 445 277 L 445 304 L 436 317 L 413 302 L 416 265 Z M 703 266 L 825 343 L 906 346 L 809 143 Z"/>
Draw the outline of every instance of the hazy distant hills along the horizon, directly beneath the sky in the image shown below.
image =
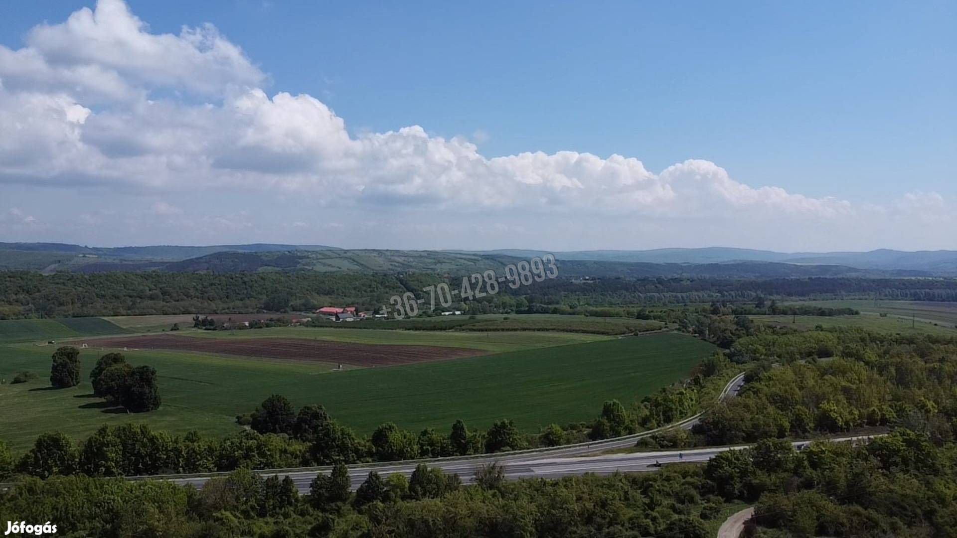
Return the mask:
<path id="1" fill-rule="evenodd" d="M 435 271 L 495 269 L 548 251 L 413 251 L 256 243 L 209 246 L 87 247 L 0 243 L 0 269 L 43 272 L 269 270 Z M 741 248 L 554 252 L 568 276 L 596 277 L 926 277 L 957 276 L 957 251 L 779 253 Z"/>

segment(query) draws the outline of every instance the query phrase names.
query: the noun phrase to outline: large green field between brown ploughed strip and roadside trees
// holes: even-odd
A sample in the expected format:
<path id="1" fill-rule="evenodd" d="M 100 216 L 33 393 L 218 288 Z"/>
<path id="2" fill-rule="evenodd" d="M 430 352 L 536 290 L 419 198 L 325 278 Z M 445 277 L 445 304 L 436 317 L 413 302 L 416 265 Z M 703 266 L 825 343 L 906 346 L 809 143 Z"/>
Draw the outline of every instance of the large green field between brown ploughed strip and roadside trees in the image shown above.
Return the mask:
<path id="1" fill-rule="evenodd" d="M 484 428 L 506 417 L 525 431 L 537 431 L 551 422 L 590 419 L 606 399 L 631 402 L 669 385 L 714 348 L 688 336 L 654 334 L 335 372 L 332 365 L 317 363 L 138 350 L 127 352 L 127 361 L 156 368 L 163 406 L 143 415 L 126 415 L 107 413 L 100 399 L 90 396 L 87 376 L 100 351 L 81 352 L 79 387 L 56 391 L 47 389 L 46 379 L 53 347 L 3 346 L 0 378 L 11 379 L 21 370 L 34 371 L 39 378 L 0 385 L 4 409 L 0 432 L 17 452 L 44 431 L 61 430 L 79 438 L 101 424 L 129 420 L 175 433 L 197 429 L 206 435 L 227 435 L 238 429 L 235 415 L 254 410 L 274 392 L 285 394 L 297 406 L 323 404 L 333 416 L 366 434 L 386 421 L 412 430 L 446 431 L 457 418 Z"/>

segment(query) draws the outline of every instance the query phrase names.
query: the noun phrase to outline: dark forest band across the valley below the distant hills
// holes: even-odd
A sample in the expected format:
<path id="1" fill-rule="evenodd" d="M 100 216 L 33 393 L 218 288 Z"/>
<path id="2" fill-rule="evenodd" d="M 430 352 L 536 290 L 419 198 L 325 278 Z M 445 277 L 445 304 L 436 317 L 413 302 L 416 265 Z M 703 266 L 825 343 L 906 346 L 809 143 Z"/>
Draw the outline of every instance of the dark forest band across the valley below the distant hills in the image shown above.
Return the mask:
<path id="1" fill-rule="evenodd" d="M 441 280 L 432 273 L 0 272 L 0 319 L 312 310 L 326 303 L 372 310 L 389 297 Z M 954 279 L 565 279 L 545 280 L 466 303 L 471 313 L 589 313 L 596 307 L 759 303 L 778 299 L 957 301 Z M 632 311 L 634 313 L 634 309 Z M 739 313 L 739 312 L 735 312 Z M 749 313 L 749 312 L 740 312 Z M 753 313 L 753 312 L 751 312 Z M 620 312 L 615 313 L 620 315 Z"/>

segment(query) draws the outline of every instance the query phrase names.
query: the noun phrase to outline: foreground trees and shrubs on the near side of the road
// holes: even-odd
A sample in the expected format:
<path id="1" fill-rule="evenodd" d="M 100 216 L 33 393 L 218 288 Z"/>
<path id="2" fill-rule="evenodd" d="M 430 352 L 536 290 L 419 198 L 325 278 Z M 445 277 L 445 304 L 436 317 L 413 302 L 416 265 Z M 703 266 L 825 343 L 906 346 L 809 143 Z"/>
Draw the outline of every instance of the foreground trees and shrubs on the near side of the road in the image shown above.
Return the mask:
<path id="1" fill-rule="evenodd" d="M 735 502 L 756 505 L 747 536 L 924 538 L 952 535 L 957 521 L 957 451 L 906 429 L 857 445 L 815 441 L 800 451 L 763 439 L 704 465 L 665 465 L 657 473 L 506 481 L 490 464 L 472 478 L 465 486 L 420 464 L 409 477 L 371 471 L 353 491 L 348 468 L 337 463 L 304 495 L 289 477 L 246 469 L 202 489 L 28 478 L 0 493 L 0 513 L 56 518 L 65 535 L 104 537 L 704 538 Z"/>

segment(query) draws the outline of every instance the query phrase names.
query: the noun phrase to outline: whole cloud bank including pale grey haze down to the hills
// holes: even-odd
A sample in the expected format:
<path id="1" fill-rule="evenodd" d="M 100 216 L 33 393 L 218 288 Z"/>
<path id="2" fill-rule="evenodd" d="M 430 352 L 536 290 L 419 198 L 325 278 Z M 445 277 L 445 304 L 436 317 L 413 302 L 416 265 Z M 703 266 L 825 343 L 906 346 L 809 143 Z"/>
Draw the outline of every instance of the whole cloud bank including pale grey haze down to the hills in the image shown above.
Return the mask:
<path id="1" fill-rule="evenodd" d="M 419 125 L 350 134 L 323 101 L 269 84 L 211 24 L 152 34 L 121 0 L 34 27 L 22 48 L 0 46 L 0 232 L 57 238 L 64 212 L 44 214 L 48 200 L 102 244 L 160 242 L 159 230 L 355 247 L 953 246 L 952 205 L 932 192 L 852 204 L 752 188 L 696 159 L 655 173 L 621 155 L 486 157 Z M 37 215 L 29 225 L 14 197 Z M 273 223 L 277 212 L 294 224 Z"/>

